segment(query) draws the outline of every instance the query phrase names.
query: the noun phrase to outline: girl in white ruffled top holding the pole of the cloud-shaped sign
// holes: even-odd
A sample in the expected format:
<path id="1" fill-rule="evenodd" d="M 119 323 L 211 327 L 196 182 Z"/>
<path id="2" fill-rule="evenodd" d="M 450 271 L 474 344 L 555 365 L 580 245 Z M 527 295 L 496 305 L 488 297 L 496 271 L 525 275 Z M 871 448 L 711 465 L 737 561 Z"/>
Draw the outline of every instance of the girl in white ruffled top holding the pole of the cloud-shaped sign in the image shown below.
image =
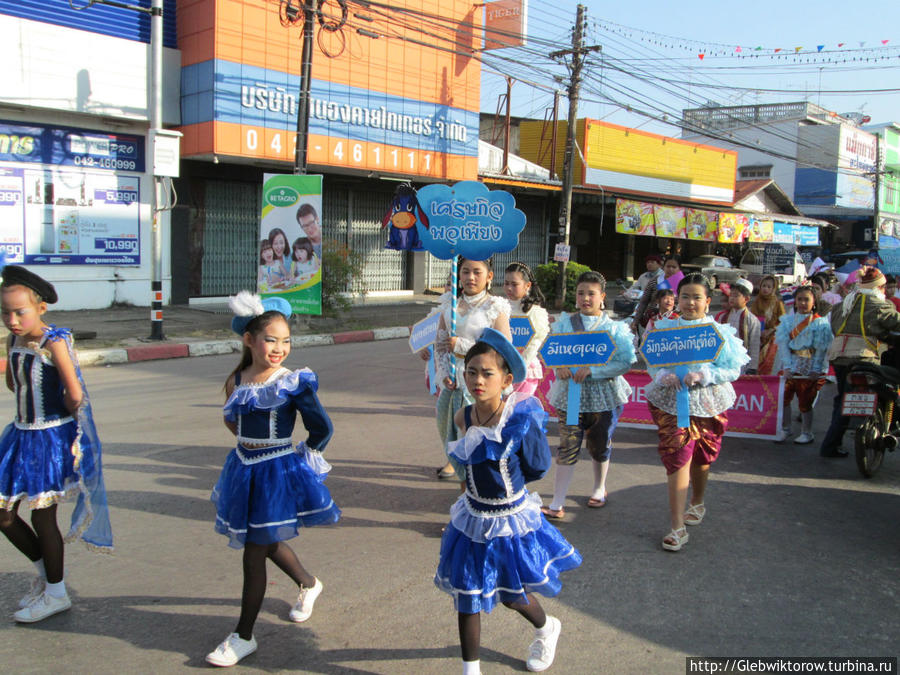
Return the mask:
<path id="1" fill-rule="evenodd" d="M 459 435 L 453 416 L 464 405 L 472 402 L 466 389 L 463 377 L 463 359 L 466 352 L 475 344 L 475 340 L 485 328 L 500 331 L 507 340 L 509 333 L 509 302 L 505 298 L 491 295 L 491 282 L 494 280 L 494 268 L 490 258 L 487 260 L 468 260 L 461 258 L 459 267 L 459 305 L 457 306 L 456 334 L 450 335 L 452 324 L 450 317 L 450 298 L 441 302 L 441 323 L 438 326 L 435 343 L 435 366 L 438 378 L 443 384 L 437 402 L 438 433 L 446 450 L 447 444 L 455 441 Z M 451 377 L 449 355 L 455 364 L 455 375 Z M 463 467 L 450 459 L 447 467 L 439 473 L 438 478 L 457 478 L 463 480 Z"/>

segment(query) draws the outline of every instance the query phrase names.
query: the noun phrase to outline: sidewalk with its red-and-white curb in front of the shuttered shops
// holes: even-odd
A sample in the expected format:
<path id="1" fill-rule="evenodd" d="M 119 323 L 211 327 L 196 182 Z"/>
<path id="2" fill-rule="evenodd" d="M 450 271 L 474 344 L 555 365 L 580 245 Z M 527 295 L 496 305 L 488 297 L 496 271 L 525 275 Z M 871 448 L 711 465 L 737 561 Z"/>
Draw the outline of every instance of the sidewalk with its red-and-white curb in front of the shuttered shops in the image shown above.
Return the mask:
<path id="1" fill-rule="evenodd" d="M 337 317 L 298 316 L 292 321 L 293 345 L 327 345 L 406 338 L 409 326 L 424 318 L 437 295 L 367 298 Z M 82 366 L 103 366 L 155 359 L 208 356 L 238 352 L 241 342 L 231 332 L 231 312 L 225 303 L 171 305 L 163 308 L 163 340 L 150 340 L 149 307 L 110 307 L 53 311 L 47 323 L 71 328 Z M 6 367 L 6 336 L 0 371 Z"/>

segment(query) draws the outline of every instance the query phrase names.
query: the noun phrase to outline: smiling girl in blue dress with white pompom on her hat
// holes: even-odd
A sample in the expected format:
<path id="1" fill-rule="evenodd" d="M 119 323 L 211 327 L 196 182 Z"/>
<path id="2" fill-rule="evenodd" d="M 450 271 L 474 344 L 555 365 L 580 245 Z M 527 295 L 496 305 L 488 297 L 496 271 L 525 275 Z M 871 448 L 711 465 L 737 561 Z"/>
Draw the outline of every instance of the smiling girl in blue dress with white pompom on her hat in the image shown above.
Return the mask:
<path id="1" fill-rule="evenodd" d="M 340 509 L 325 487 L 331 466 L 322 451 L 332 425 L 316 390 L 319 383 L 308 368 L 288 370 L 291 352 L 287 319 L 291 306 L 283 298 L 266 298 L 241 291 L 229 304 L 236 316 L 232 329 L 242 336 L 241 362 L 225 382 L 225 426 L 237 437 L 212 493 L 216 531 L 232 548 L 244 549 L 244 587 L 237 627 L 206 660 L 233 666 L 256 651 L 253 625 L 266 591 L 266 559 L 299 588 L 290 611 L 301 623 L 312 615 L 322 582 L 306 571 L 285 543 L 301 526 L 337 522 Z M 293 446 L 297 413 L 309 432 Z"/>

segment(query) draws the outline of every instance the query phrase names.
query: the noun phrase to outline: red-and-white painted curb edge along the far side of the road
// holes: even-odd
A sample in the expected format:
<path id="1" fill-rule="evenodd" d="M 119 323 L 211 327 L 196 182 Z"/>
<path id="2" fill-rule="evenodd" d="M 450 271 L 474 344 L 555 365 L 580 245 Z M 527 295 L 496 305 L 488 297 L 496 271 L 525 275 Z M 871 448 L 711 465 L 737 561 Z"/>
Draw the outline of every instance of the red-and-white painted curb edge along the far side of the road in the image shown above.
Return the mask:
<path id="1" fill-rule="evenodd" d="M 392 328 L 375 328 L 373 330 L 354 330 L 343 333 L 325 333 L 321 335 L 295 335 L 291 338 L 292 347 L 322 347 L 326 345 L 349 344 L 352 342 L 371 342 L 374 340 L 394 340 L 408 338 L 408 326 Z M 113 347 L 109 349 L 79 349 L 78 363 L 82 367 L 109 366 L 117 363 L 138 363 L 140 361 L 158 361 L 161 359 L 180 359 L 191 356 L 217 356 L 240 352 L 240 340 L 204 340 L 201 342 L 172 342 L 158 345 L 140 345 L 136 347 Z M 6 372 L 6 359 L 0 359 L 0 373 Z"/>

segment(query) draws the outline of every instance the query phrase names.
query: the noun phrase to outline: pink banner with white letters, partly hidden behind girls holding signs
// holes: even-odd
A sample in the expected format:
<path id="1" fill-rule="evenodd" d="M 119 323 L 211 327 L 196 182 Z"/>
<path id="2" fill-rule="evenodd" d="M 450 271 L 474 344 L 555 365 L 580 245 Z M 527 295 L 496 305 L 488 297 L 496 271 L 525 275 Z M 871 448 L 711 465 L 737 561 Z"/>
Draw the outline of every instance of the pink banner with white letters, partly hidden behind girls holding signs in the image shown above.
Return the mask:
<path id="1" fill-rule="evenodd" d="M 556 410 L 548 399 L 553 383 L 552 370 L 545 371 L 535 396 L 544 410 L 551 416 Z M 650 375 L 643 370 L 631 370 L 625 374 L 631 385 L 631 397 L 625 403 L 625 410 L 619 418 L 620 427 L 634 429 L 656 429 L 647 397 L 644 393 L 650 384 Z M 784 398 L 784 379 L 778 375 L 744 375 L 732 382 L 737 394 L 734 406 L 728 411 L 728 431 L 726 436 L 736 438 L 774 439 L 778 432 Z"/>

